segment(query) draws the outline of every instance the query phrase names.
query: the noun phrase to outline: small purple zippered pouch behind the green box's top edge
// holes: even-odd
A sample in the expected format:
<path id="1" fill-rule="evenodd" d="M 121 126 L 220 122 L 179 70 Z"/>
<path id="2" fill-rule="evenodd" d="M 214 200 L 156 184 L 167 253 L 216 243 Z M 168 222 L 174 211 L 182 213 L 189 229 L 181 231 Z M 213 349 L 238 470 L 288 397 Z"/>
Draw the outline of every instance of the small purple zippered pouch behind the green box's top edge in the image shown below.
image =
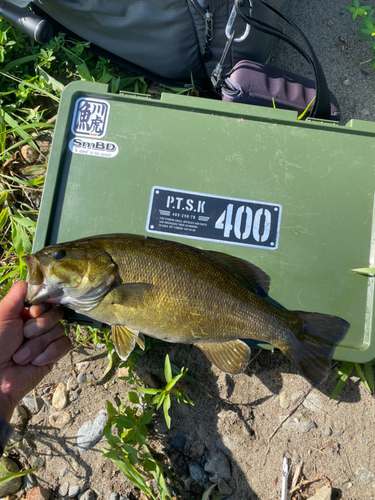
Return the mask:
<path id="1" fill-rule="evenodd" d="M 315 82 L 272 66 L 240 61 L 226 75 L 221 87 L 223 101 L 254 104 L 303 113 L 316 96 Z M 272 102 L 272 98 L 274 103 Z M 329 91 L 330 119 L 340 120 L 340 109 Z M 310 116 L 311 109 L 306 113 Z"/>

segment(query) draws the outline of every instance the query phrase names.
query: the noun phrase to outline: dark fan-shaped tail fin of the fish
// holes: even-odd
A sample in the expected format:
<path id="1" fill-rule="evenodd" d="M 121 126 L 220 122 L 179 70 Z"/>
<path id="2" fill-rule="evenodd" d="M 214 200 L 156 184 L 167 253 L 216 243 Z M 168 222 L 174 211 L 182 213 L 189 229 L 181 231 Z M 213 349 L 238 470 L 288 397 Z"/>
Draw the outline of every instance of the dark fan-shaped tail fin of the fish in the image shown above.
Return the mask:
<path id="1" fill-rule="evenodd" d="M 314 384 L 325 382 L 335 347 L 345 337 L 350 324 L 337 316 L 292 311 L 300 328 L 282 352 Z"/>

